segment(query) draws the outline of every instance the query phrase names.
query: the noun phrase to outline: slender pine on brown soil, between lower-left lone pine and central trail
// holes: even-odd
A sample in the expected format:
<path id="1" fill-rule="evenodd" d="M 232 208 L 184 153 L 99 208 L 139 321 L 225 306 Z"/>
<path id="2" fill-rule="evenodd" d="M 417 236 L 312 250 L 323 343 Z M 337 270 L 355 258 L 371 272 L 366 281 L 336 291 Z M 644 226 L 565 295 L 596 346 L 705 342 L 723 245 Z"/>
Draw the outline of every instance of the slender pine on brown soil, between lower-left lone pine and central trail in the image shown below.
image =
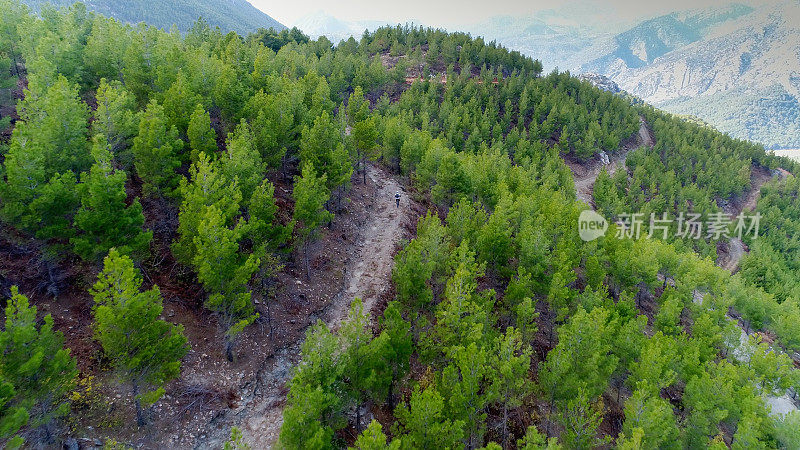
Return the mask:
<path id="1" fill-rule="evenodd" d="M 247 284 L 258 269 L 259 259 L 243 254 L 239 248 L 245 233 L 244 221 L 232 229 L 225 222 L 217 206 L 205 209 L 194 237 L 196 254 L 192 263 L 209 293 L 206 308 L 219 315 L 225 332 L 225 355 L 233 361 L 236 338 L 258 318 Z"/>

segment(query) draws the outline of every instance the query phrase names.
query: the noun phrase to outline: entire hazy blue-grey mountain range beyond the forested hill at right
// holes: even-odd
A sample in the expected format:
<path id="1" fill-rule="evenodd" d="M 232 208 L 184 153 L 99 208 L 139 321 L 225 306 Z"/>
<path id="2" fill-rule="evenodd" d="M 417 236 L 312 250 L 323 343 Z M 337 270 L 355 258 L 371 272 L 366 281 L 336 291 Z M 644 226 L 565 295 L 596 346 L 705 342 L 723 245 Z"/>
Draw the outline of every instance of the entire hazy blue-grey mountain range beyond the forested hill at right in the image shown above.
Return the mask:
<path id="1" fill-rule="evenodd" d="M 592 5 L 589 3 L 589 5 Z M 730 4 L 635 23 L 602 5 L 493 18 L 470 28 L 541 59 L 604 75 L 646 102 L 768 148 L 800 147 L 800 3 Z M 616 29 L 616 30 L 615 30 Z M 615 31 L 614 31 L 615 30 Z"/>

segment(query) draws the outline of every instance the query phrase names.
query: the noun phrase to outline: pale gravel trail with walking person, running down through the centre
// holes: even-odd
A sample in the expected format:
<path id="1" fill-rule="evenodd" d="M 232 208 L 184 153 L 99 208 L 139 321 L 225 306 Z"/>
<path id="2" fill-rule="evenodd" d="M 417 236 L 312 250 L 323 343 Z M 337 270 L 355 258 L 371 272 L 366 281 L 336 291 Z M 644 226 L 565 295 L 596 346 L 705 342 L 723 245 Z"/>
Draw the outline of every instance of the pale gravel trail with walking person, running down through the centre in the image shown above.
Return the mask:
<path id="1" fill-rule="evenodd" d="M 368 183 L 375 186 L 371 214 L 365 217 L 359 236 L 354 240 L 358 249 L 345 268 L 345 288 L 325 307 L 309 317 L 309 324 L 321 318 L 330 328 L 337 328 L 347 317 L 353 298 L 364 301 L 365 311 L 373 313 L 378 300 L 387 293 L 391 285 L 394 253 L 401 239 L 407 238 L 419 215 L 419 205 L 406 195 L 402 186 L 388 173 L 376 166 L 367 167 Z M 394 195 L 400 192 L 400 208 L 395 207 Z M 264 369 L 257 375 L 249 405 L 240 406 L 234 412 L 242 428 L 244 438 L 252 448 L 272 448 L 277 442 L 283 423 L 283 406 L 286 398 L 286 382 L 291 368 L 299 362 L 302 338 L 271 356 Z M 244 389 L 245 391 L 247 388 Z M 243 392 L 243 397 L 247 392 Z"/>

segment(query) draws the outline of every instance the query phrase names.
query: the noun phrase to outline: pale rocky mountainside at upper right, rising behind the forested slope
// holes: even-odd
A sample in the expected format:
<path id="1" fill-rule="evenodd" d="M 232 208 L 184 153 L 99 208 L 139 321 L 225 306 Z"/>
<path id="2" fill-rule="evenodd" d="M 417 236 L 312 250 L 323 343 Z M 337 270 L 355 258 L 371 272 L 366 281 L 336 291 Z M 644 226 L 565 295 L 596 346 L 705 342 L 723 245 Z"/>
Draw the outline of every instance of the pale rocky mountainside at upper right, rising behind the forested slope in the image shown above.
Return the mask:
<path id="1" fill-rule="evenodd" d="M 800 6 L 789 2 L 719 17 L 716 25 L 704 25 L 707 31 L 698 30 L 705 36 L 647 64 L 629 64 L 610 54 L 581 71 L 606 75 L 649 103 L 698 116 L 735 137 L 770 148 L 797 146 Z M 672 40 L 686 37 L 676 30 L 637 26 L 624 35 L 640 43 L 658 34 Z"/>

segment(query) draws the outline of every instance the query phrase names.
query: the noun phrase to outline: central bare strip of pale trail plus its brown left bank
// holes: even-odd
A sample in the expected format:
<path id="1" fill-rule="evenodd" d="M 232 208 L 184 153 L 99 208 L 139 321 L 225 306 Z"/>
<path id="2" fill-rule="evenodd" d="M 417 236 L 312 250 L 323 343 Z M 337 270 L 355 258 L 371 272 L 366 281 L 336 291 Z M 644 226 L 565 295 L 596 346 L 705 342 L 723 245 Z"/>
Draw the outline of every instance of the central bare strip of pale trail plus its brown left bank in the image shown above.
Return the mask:
<path id="1" fill-rule="evenodd" d="M 376 307 L 390 294 L 394 254 L 401 241 L 411 237 L 423 208 L 384 170 L 370 165 L 367 174 L 367 184 L 355 185 L 352 201 L 318 243 L 311 281 L 306 281 L 302 264 L 289 267 L 281 279 L 282 289 L 271 311 L 275 350 L 242 377 L 238 404 L 217 411 L 208 433 L 194 440 L 194 446 L 221 446 L 235 425 L 253 448 L 272 447 L 282 424 L 286 382 L 299 360 L 306 329 L 317 320 L 337 326 L 354 297 L 364 300 L 373 317 L 379 313 Z M 400 208 L 394 202 L 397 191 Z"/>

